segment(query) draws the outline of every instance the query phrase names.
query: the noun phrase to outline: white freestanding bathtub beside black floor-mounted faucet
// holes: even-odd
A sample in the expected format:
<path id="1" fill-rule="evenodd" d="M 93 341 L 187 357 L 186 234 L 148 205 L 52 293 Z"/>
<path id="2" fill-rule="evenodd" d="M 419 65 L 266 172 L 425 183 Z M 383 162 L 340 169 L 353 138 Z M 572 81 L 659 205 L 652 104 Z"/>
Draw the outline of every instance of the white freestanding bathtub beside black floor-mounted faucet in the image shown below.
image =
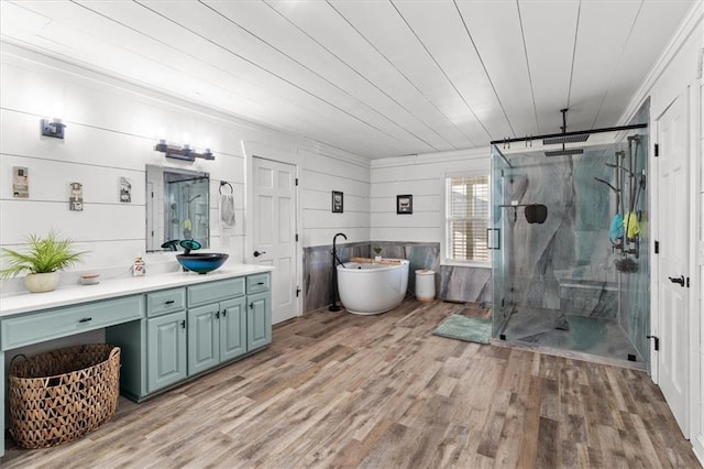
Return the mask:
<path id="1" fill-rule="evenodd" d="M 400 305 L 408 287 L 408 261 L 398 265 L 346 262 L 338 265 L 338 292 L 344 308 L 372 315 Z"/>

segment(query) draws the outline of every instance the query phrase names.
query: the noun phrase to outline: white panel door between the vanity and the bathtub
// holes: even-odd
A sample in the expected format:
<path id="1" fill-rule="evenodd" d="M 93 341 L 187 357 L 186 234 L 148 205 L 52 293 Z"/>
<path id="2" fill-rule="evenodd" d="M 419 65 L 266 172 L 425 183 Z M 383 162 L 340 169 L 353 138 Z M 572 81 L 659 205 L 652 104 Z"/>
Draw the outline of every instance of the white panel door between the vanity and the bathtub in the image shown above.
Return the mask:
<path id="1" fill-rule="evenodd" d="M 272 323 L 298 315 L 296 302 L 296 166 L 252 159 L 254 263 L 274 266 Z"/>

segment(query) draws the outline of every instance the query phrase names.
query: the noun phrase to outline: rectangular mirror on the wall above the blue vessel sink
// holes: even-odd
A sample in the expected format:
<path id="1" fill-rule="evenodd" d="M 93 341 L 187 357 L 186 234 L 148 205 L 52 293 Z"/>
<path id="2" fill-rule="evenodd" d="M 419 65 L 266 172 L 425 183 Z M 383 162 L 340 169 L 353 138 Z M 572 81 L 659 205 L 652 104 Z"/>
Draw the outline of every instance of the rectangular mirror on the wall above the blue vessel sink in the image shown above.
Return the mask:
<path id="1" fill-rule="evenodd" d="M 146 251 L 179 250 L 184 239 L 210 246 L 210 175 L 146 165 Z"/>

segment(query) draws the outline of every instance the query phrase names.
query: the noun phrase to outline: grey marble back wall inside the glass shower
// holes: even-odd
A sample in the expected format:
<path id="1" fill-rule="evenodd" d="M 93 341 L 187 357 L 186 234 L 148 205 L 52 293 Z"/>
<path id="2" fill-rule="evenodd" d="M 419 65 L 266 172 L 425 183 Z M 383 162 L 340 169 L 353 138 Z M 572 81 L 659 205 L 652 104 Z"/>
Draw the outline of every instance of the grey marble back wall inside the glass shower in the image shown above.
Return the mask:
<path id="1" fill-rule="evenodd" d="M 529 223 L 524 207 L 501 209 L 505 277 L 495 302 L 616 317 L 615 253 L 608 239 L 615 203 L 608 186 L 594 179 L 610 179 L 613 170 L 605 164 L 613 159 L 613 148 L 580 156 L 512 156 L 514 167 L 503 176 L 504 199 L 495 203 L 543 204 L 548 217 Z"/>

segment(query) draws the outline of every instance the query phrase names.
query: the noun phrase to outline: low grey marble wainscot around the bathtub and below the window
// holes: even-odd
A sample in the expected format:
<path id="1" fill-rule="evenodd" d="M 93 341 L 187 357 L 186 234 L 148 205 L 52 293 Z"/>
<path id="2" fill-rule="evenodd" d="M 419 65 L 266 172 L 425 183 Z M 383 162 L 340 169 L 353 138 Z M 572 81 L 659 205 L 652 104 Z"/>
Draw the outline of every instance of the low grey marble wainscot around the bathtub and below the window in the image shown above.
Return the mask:
<path id="1" fill-rule="evenodd" d="M 437 242 L 358 242 L 338 246 L 338 257 L 370 258 L 373 246 L 382 247 L 382 257 L 408 259 L 408 292 L 415 292 L 416 270 L 436 271 L 436 297 L 452 302 L 491 303 L 491 269 L 440 265 L 440 243 Z M 304 310 L 329 305 L 331 298 L 332 246 L 304 249 Z"/>

